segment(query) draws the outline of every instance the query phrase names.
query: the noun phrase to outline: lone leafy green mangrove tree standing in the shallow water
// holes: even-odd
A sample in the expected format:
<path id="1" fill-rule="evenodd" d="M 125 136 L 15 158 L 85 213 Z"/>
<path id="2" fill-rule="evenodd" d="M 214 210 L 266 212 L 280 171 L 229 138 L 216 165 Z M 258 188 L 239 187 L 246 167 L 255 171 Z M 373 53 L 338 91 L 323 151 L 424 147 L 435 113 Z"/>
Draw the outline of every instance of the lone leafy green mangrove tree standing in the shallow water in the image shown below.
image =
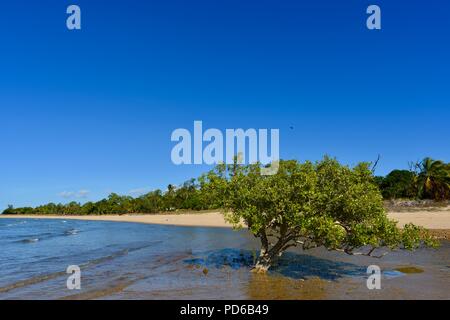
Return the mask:
<path id="1" fill-rule="evenodd" d="M 432 244 L 422 228 L 400 230 L 387 218 L 368 163 L 349 168 L 326 157 L 317 163 L 281 161 L 271 176 L 260 170 L 257 164 L 221 165 L 206 175 L 227 219 L 235 226 L 244 222 L 260 238 L 260 270 L 296 245 L 348 254 L 369 247 L 367 254 L 372 254 L 381 247 Z"/>

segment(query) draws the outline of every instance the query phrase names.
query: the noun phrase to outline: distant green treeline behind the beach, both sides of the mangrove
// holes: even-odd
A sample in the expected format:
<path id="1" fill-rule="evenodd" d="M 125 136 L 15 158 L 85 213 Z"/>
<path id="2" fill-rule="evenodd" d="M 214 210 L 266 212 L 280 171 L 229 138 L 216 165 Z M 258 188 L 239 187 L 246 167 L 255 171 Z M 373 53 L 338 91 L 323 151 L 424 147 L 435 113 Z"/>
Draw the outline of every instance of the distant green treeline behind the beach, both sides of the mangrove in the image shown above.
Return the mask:
<path id="1" fill-rule="evenodd" d="M 411 163 L 409 170 L 394 170 L 386 177 L 375 176 L 373 179 L 385 199 L 450 199 L 450 164 L 443 161 L 425 158 Z M 112 193 L 106 199 L 85 204 L 49 203 L 35 208 L 8 206 L 3 214 L 102 215 L 218 209 L 219 202 L 206 185 L 207 181 L 205 174 L 181 186 L 169 185 L 164 192 L 155 190 L 137 198 Z"/>

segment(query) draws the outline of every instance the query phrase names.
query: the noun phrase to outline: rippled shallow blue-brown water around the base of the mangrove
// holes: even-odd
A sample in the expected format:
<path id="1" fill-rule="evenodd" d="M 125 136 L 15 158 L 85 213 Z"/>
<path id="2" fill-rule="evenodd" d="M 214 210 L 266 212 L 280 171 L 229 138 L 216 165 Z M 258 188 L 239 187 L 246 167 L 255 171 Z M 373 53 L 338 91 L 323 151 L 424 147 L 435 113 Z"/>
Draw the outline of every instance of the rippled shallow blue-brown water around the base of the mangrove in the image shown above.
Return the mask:
<path id="1" fill-rule="evenodd" d="M 268 275 L 250 272 L 257 240 L 226 228 L 2 219 L 0 242 L 0 299 L 450 299 L 450 242 L 382 259 L 293 250 Z"/>

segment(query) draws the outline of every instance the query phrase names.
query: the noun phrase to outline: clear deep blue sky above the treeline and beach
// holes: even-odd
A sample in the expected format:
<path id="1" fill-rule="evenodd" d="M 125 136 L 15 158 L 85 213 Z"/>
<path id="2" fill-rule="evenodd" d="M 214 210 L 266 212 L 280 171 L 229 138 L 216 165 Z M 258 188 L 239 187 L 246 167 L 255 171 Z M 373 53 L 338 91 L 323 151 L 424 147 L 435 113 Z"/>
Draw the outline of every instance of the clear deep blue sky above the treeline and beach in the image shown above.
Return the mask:
<path id="1" fill-rule="evenodd" d="M 70 4 L 81 31 L 66 29 Z M 381 31 L 366 28 L 369 4 Z M 379 174 L 450 161 L 449 12 L 439 0 L 3 1 L 0 208 L 195 177 L 208 168 L 170 160 L 171 132 L 194 120 L 279 128 L 285 159 L 381 154 Z"/>

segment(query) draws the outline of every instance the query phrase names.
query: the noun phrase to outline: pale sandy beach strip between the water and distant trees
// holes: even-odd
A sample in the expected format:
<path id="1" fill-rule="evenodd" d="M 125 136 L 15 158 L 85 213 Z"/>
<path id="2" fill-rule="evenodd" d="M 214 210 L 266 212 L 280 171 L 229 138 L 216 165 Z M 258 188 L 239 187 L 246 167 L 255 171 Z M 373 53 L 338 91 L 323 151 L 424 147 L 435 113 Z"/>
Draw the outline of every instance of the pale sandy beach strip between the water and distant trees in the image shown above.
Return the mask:
<path id="1" fill-rule="evenodd" d="M 450 211 L 388 212 L 390 219 L 398 221 L 400 227 L 407 223 L 424 227 L 440 239 L 450 240 Z M 0 219 L 62 219 L 133 222 L 183 227 L 232 228 L 220 212 L 189 212 L 178 214 L 124 214 L 124 215 L 0 215 Z"/>

